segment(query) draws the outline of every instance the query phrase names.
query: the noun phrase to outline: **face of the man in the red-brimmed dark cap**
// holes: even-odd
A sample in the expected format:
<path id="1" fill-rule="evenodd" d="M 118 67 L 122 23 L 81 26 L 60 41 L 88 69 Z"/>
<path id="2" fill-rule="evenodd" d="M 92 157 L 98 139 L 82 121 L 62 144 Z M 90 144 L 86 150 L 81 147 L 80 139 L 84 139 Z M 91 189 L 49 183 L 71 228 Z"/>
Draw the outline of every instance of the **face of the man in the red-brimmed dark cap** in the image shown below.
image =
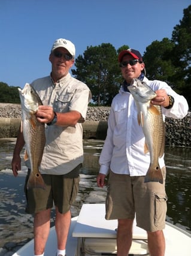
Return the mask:
<path id="1" fill-rule="evenodd" d="M 131 55 L 123 56 L 122 63 L 129 62 L 134 60 Z M 141 74 L 141 71 L 144 70 L 144 63 L 137 62 L 135 65 L 127 64 L 126 67 L 122 67 L 122 76 L 127 83 L 131 83 L 132 79 L 138 78 Z"/>

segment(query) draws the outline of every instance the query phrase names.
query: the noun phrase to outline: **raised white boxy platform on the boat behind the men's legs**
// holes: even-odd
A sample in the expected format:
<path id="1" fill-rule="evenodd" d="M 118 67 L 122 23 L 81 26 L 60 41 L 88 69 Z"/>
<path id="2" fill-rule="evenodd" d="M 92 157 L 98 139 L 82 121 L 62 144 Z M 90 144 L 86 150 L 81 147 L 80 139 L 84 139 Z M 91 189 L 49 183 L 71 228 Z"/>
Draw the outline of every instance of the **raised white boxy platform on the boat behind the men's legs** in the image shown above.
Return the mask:
<path id="1" fill-rule="evenodd" d="M 105 219 L 105 204 L 83 204 L 72 232 L 78 238 L 77 256 L 116 254 L 117 220 Z M 129 254 L 148 255 L 147 232 L 133 226 L 133 242 Z"/>

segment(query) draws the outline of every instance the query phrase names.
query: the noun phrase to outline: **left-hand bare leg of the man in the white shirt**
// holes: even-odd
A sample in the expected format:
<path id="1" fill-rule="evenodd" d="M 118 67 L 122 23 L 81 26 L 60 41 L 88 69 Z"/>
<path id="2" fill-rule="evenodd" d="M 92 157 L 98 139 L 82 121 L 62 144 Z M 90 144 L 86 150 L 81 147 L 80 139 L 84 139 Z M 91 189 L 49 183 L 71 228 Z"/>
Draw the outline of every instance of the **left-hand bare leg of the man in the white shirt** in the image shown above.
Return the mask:
<path id="1" fill-rule="evenodd" d="M 118 219 L 117 256 L 127 256 L 132 243 L 133 219 Z"/>

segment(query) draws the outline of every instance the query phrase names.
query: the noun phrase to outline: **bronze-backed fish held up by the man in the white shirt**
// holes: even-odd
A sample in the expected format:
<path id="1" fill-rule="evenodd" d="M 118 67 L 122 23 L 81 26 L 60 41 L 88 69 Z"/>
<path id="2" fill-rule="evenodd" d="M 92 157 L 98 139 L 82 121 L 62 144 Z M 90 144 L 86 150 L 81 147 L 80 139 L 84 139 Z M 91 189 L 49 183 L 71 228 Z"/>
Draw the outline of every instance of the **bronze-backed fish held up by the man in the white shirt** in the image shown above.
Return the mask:
<path id="1" fill-rule="evenodd" d="M 139 79 L 133 79 L 128 89 L 134 97 L 138 110 L 138 124 L 141 124 L 145 135 L 144 153 L 150 152 L 150 166 L 145 176 L 145 182 L 163 183 L 159 158 L 162 157 L 165 150 L 165 123 L 161 107 L 150 103 L 156 94 Z"/>

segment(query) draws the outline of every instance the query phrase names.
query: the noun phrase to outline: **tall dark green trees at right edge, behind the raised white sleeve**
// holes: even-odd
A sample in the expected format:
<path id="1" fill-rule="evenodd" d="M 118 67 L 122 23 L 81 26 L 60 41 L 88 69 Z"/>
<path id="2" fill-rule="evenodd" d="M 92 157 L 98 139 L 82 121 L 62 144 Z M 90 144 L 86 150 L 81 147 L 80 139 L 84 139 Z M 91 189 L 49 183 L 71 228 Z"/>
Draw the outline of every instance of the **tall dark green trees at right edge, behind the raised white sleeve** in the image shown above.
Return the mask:
<path id="1" fill-rule="evenodd" d="M 191 106 L 191 5 L 183 13 L 180 25 L 174 27 L 172 39 L 153 41 L 147 46 L 143 59 L 148 79 L 165 81 Z"/>

